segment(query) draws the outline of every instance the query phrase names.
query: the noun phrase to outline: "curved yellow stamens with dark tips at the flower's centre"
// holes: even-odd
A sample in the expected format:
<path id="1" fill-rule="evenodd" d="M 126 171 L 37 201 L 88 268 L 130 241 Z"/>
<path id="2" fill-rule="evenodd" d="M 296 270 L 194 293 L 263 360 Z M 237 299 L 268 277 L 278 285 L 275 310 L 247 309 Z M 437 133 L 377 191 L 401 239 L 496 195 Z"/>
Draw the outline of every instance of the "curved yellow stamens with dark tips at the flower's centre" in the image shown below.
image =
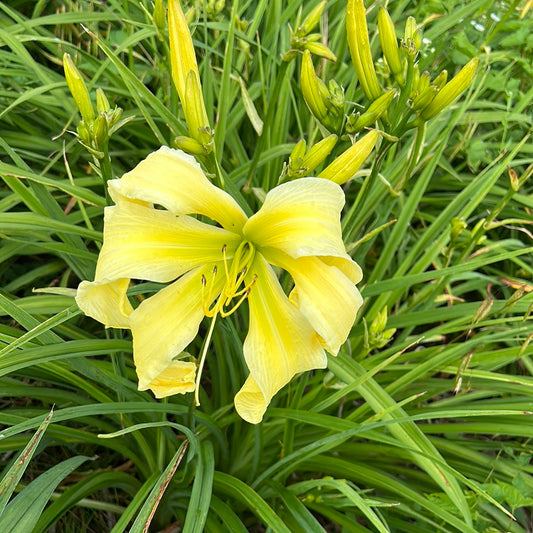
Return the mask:
<path id="1" fill-rule="evenodd" d="M 249 241 L 241 242 L 231 259 L 231 263 L 226 256 L 226 245 L 222 247 L 222 256 L 226 279 L 220 295 L 214 301 L 214 287 L 218 285 L 216 278 L 221 274 L 215 266 L 209 284 L 205 276 L 202 276 L 202 304 L 204 313 L 208 317 L 214 317 L 217 314 L 220 314 L 221 317 L 227 317 L 234 313 L 246 300 L 257 279 L 254 277 L 249 283 L 245 282 L 246 274 L 255 257 L 255 248 Z M 238 298 L 237 302 L 231 305 L 235 298 Z"/>

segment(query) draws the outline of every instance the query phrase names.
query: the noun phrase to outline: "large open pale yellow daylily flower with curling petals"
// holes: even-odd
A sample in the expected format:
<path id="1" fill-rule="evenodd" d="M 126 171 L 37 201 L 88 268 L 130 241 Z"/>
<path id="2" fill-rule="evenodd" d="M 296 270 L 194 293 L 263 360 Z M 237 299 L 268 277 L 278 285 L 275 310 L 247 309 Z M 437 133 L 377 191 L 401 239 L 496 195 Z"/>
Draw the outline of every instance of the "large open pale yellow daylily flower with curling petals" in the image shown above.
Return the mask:
<path id="1" fill-rule="evenodd" d="M 262 420 L 295 374 L 325 368 L 325 350 L 338 353 L 362 303 L 355 286 L 362 275 L 342 241 L 337 184 L 284 183 L 248 218 L 192 156 L 162 147 L 108 185 L 115 205 L 105 210 L 95 280 L 80 284 L 76 301 L 107 327 L 131 329 L 140 390 L 164 397 L 196 385 L 198 393 L 207 348 L 196 378 L 194 364 L 180 360 L 183 350 L 205 316 L 212 318 L 209 340 L 215 319 L 245 299 L 250 374 L 235 407 L 248 422 Z M 288 296 L 273 267 L 292 277 Z M 126 295 L 131 279 L 169 285 L 134 309 Z"/>

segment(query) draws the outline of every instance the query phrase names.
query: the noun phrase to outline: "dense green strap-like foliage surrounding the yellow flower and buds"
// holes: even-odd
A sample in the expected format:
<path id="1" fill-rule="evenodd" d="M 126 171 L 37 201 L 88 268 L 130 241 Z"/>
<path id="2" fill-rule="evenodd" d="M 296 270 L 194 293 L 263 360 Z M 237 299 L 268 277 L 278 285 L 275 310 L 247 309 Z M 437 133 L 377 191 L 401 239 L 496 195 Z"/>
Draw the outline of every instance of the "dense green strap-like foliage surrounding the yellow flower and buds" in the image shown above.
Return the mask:
<path id="1" fill-rule="evenodd" d="M 326 134 L 301 56 L 281 62 L 318 2 L 196 4 L 221 174 L 252 212 L 295 144 Z M 217 323 L 195 409 L 191 395 L 139 392 L 128 332 L 73 299 L 101 246 L 100 173 L 119 177 L 186 133 L 152 2 L 0 3 L 1 531 L 531 531 L 533 19 L 516 1 L 413 4 L 387 7 L 399 33 L 410 15 L 423 24 L 420 71 L 453 75 L 478 56 L 477 77 L 344 186 L 364 307 L 328 370 L 295 378 L 252 426 L 233 409 L 246 317 Z M 368 101 L 345 9 L 331 0 L 315 29 L 337 62 L 314 65 L 350 114 Z M 368 25 L 377 58 L 376 10 Z M 128 119 L 107 167 L 73 133 L 65 52 Z"/>

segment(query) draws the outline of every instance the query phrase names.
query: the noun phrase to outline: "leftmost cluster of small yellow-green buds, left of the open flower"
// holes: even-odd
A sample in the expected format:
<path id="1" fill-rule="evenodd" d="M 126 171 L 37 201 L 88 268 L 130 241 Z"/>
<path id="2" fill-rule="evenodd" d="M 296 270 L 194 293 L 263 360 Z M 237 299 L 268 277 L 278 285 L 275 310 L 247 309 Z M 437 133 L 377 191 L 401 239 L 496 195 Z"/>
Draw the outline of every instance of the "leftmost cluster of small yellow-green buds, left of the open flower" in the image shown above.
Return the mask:
<path id="1" fill-rule="evenodd" d="M 123 126 L 128 119 L 120 120 L 122 109 L 111 109 L 102 89 L 96 89 L 96 113 L 87 85 L 69 54 L 63 56 L 63 68 L 67 86 L 81 114 L 77 132 L 79 141 L 97 159 L 102 159 L 111 135 Z"/>

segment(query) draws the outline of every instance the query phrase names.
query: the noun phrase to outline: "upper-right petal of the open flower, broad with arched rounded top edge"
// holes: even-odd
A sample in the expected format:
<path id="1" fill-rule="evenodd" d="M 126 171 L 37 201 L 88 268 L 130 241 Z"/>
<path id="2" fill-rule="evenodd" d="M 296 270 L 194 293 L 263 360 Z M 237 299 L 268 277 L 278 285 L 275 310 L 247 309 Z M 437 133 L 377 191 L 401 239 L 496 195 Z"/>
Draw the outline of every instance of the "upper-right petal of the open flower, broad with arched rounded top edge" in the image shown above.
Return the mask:
<path id="1" fill-rule="evenodd" d="M 268 192 L 265 203 L 245 224 L 246 239 L 278 248 L 292 257 L 344 257 L 340 212 L 342 189 L 329 180 L 304 178 Z"/>

